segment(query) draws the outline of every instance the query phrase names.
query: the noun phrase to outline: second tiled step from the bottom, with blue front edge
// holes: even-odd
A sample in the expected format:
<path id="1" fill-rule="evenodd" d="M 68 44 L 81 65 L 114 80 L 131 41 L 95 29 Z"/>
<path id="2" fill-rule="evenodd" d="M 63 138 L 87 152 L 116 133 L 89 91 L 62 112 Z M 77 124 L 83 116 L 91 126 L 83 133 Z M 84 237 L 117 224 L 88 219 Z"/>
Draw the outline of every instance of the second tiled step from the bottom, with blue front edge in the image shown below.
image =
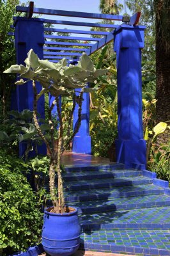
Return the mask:
<path id="1" fill-rule="evenodd" d="M 170 207 L 154 207 L 124 211 L 82 214 L 79 218 L 82 230 L 168 230 L 170 229 Z"/>

